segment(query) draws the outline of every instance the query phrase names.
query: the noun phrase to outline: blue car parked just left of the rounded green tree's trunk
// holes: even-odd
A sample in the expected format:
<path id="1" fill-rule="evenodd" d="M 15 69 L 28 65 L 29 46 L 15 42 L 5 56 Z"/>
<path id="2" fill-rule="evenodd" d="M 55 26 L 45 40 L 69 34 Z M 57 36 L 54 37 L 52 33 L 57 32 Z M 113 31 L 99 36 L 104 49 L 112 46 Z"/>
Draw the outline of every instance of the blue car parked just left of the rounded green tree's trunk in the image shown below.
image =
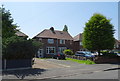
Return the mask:
<path id="1" fill-rule="evenodd" d="M 86 57 L 86 58 L 94 58 L 95 55 L 92 55 L 91 52 L 88 51 L 77 51 L 75 53 L 75 56 L 81 56 L 81 57 Z"/>

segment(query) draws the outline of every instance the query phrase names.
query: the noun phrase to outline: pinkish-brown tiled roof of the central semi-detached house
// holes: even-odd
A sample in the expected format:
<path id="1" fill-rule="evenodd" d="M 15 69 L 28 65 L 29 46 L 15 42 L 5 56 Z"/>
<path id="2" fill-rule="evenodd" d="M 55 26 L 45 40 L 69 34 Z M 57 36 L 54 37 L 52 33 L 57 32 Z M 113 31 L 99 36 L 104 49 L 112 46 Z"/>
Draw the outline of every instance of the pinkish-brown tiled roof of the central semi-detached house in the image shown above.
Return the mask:
<path id="1" fill-rule="evenodd" d="M 72 36 L 68 32 L 58 30 L 54 30 L 54 32 L 52 32 L 48 29 L 43 30 L 35 37 L 73 40 Z"/>

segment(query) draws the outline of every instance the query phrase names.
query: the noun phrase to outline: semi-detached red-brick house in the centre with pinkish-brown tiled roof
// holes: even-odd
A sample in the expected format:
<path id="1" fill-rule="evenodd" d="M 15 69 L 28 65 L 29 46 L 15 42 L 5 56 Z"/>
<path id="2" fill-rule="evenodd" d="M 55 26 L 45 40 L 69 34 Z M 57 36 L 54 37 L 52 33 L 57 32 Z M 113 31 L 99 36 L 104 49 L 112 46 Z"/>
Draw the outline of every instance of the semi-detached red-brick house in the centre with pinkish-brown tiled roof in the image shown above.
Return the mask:
<path id="1" fill-rule="evenodd" d="M 43 43 L 38 51 L 38 57 L 51 57 L 53 54 L 62 53 L 65 49 L 73 49 L 73 38 L 65 31 L 54 30 L 53 27 L 45 29 L 33 37 Z"/>

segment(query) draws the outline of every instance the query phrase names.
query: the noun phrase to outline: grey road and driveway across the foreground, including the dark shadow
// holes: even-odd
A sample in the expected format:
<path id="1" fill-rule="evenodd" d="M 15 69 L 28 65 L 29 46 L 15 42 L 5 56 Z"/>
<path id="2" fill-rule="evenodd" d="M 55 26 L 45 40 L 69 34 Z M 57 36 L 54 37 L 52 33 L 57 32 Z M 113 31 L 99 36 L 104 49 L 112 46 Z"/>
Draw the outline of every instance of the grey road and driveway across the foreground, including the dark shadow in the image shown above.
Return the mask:
<path id="1" fill-rule="evenodd" d="M 35 59 L 33 69 L 7 71 L 3 79 L 118 79 L 117 64 L 78 64 L 68 60 Z"/>

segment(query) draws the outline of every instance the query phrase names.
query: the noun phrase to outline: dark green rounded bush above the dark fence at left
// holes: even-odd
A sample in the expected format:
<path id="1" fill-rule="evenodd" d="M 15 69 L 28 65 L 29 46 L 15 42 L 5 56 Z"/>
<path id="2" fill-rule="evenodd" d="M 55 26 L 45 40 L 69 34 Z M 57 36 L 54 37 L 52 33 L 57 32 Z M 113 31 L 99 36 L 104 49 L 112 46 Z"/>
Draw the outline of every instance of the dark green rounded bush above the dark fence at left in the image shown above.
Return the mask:
<path id="1" fill-rule="evenodd" d="M 33 40 L 25 40 L 12 36 L 4 41 L 4 59 L 29 59 L 33 58 L 41 44 Z"/>

